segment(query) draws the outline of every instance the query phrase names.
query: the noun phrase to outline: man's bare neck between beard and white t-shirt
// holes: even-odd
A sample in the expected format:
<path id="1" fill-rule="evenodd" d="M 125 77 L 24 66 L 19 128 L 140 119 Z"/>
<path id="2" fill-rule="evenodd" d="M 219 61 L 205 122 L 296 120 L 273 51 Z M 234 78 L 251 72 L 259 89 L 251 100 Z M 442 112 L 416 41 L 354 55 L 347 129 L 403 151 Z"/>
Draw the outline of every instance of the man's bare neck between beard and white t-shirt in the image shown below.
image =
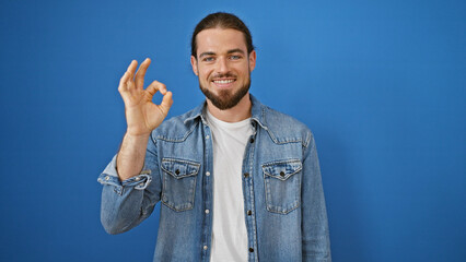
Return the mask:
<path id="1" fill-rule="evenodd" d="M 209 99 L 207 99 L 207 109 L 209 112 L 217 119 L 224 122 L 240 122 L 249 118 L 252 106 L 253 104 L 251 103 L 249 93 L 247 93 L 236 106 L 226 110 L 220 110 L 213 106 Z"/>

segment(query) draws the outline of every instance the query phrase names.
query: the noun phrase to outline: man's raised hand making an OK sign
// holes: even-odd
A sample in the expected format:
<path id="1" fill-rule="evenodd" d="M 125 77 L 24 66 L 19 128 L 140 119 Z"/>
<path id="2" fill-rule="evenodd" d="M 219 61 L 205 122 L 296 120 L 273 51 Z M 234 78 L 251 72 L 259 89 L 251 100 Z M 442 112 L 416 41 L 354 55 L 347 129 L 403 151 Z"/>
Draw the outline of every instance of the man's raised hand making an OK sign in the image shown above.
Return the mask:
<path id="1" fill-rule="evenodd" d="M 173 104 L 172 92 L 167 92 L 164 84 L 154 81 L 145 90 L 143 88 L 145 71 L 150 63 L 151 60 L 145 59 L 135 75 L 138 62 L 132 60 L 119 81 L 118 92 L 125 103 L 129 135 L 149 135 L 162 123 Z M 160 105 L 152 103 L 152 97 L 158 91 L 163 95 Z"/>

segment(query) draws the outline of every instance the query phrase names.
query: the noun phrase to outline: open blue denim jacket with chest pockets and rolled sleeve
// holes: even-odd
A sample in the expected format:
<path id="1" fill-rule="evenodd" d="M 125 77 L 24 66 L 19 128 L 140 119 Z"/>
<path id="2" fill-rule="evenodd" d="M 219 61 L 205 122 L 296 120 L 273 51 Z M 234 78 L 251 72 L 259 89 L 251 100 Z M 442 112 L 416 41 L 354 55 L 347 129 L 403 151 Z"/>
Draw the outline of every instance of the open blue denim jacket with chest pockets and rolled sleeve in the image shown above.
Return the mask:
<path id="1" fill-rule="evenodd" d="M 248 261 L 331 261 L 313 134 L 251 99 L 254 134 L 242 167 Z M 152 132 L 140 175 L 120 181 L 114 157 L 98 177 L 101 219 L 109 234 L 137 226 L 162 201 L 154 261 L 209 261 L 212 212 L 206 211 L 212 210 L 215 174 L 203 107 Z"/>

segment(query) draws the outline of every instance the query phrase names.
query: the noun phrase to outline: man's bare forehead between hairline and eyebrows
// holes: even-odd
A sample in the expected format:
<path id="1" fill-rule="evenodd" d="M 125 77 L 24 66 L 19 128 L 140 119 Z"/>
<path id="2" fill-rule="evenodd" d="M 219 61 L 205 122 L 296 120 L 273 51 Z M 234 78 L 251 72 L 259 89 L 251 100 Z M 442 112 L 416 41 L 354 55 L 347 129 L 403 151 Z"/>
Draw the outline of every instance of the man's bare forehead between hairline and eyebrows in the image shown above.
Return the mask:
<path id="1" fill-rule="evenodd" d="M 196 36 L 197 53 L 205 51 L 222 52 L 241 49 L 247 52 L 246 39 L 243 32 L 231 28 L 209 28 Z"/>

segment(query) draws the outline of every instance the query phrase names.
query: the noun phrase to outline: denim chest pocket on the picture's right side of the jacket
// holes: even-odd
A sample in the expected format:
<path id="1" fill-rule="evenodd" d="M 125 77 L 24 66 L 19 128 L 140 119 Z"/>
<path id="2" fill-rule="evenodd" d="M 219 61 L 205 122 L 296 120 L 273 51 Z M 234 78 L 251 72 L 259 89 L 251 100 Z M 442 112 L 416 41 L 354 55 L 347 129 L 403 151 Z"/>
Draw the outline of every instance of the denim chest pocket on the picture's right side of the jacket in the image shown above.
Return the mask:
<path id="1" fill-rule="evenodd" d="M 299 159 L 263 165 L 266 205 L 269 212 L 288 214 L 301 203 L 301 170 Z"/>

